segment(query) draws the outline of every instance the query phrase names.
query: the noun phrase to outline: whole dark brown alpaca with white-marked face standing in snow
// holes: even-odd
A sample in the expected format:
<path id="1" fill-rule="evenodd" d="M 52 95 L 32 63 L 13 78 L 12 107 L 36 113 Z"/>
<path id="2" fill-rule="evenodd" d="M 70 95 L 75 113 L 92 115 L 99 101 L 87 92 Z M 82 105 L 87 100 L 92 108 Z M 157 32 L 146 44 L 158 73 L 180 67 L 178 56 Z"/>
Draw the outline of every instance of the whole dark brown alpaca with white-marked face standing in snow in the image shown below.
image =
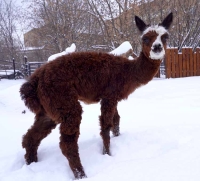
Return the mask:
<path id="1" fill-rule="evenodd" d="M 142 33 L 142 52 L 130 61 L 107 53 L 76 52 L 61 56 L 37 69 L 20 88 L 25 105 L 35 113 L 33 126 L 24 135 L 27 164 L 37 162 L 37 149 L 57 124 L 60 124 L 60 148 L 68 159 L 76 179 L 86 177 L 78 152 L 82 107 L 79 103 L 101 103 L 100 135 L 103 154 L 110 155 L 110 131 L 120 134 L 117 104 L 157 73 L 165 55 L 170 13 L 161 24 L 135 22 Z"/>

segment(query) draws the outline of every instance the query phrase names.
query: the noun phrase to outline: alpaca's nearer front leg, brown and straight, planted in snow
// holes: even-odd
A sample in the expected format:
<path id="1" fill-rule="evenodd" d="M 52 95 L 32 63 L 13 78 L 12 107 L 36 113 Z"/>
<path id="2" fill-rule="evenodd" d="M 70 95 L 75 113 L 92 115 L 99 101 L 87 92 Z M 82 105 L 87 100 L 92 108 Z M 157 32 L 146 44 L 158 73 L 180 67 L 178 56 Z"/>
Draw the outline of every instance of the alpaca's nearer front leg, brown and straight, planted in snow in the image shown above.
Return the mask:
<path id="1" fill-rule="evenodd" d="M 105 99 L 101 101 L 100 134 L 103 139 L 103 154 L 110 155 L 110 130 L 113 126 L 116 106 L 117 101 Z"/>

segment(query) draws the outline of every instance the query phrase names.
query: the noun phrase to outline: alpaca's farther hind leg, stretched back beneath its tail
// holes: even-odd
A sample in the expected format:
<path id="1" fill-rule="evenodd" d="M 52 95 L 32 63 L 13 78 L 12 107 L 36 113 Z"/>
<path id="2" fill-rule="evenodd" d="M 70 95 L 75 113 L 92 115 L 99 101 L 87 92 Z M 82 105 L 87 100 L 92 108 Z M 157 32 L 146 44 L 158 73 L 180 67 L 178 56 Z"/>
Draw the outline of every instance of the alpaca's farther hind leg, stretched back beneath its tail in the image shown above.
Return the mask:
<path id="1" fill-rule="evenodd" d="M 35 116 L 33 126 L 23 136 L 22 146 L 26 149 L 25 160 L 27 164 L 37 162 L 37 149 L 43 138 L 45 138 L 56 123 L 47 117 L 44 113 Z"/>

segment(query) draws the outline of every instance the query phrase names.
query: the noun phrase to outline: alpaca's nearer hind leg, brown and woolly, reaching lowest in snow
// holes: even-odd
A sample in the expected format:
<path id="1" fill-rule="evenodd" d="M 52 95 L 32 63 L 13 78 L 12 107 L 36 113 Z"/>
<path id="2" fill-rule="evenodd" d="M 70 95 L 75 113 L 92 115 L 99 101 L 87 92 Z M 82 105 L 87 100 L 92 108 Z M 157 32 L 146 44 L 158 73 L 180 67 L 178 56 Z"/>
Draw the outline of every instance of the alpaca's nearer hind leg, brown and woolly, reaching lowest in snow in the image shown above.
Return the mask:
<path id="1" fill-rule="evenodd" d="M 82 108 L 78 101 L 72 102 L 71 99 L 70 103 L 60 125 L 60 148 L 63 155 L 68 159 L 75 178 L 81 179 L 86 177 L 78 152 Z"/>

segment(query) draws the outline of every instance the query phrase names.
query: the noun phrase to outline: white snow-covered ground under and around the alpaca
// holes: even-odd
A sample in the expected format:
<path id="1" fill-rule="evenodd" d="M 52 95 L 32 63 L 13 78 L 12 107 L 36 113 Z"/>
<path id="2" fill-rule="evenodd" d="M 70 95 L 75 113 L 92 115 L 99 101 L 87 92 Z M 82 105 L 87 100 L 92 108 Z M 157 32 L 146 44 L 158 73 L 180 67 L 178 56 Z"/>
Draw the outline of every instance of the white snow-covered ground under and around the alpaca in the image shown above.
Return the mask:
<path id="1" fill-rule="evenodd" d="M 69 181 L 57 127 L 27 166 L 22 135 L 34 115 L 19 97 L 23 80 L 0 81 L 0 181 Z M 87 181 L 199 181 L 200 77 L 154 79 L 119 103 L 121 135 L 102 155 L 99 104 L 83 105 L 80 157 Z M 26 110 L 26 114 L 22 111 Z"/>

